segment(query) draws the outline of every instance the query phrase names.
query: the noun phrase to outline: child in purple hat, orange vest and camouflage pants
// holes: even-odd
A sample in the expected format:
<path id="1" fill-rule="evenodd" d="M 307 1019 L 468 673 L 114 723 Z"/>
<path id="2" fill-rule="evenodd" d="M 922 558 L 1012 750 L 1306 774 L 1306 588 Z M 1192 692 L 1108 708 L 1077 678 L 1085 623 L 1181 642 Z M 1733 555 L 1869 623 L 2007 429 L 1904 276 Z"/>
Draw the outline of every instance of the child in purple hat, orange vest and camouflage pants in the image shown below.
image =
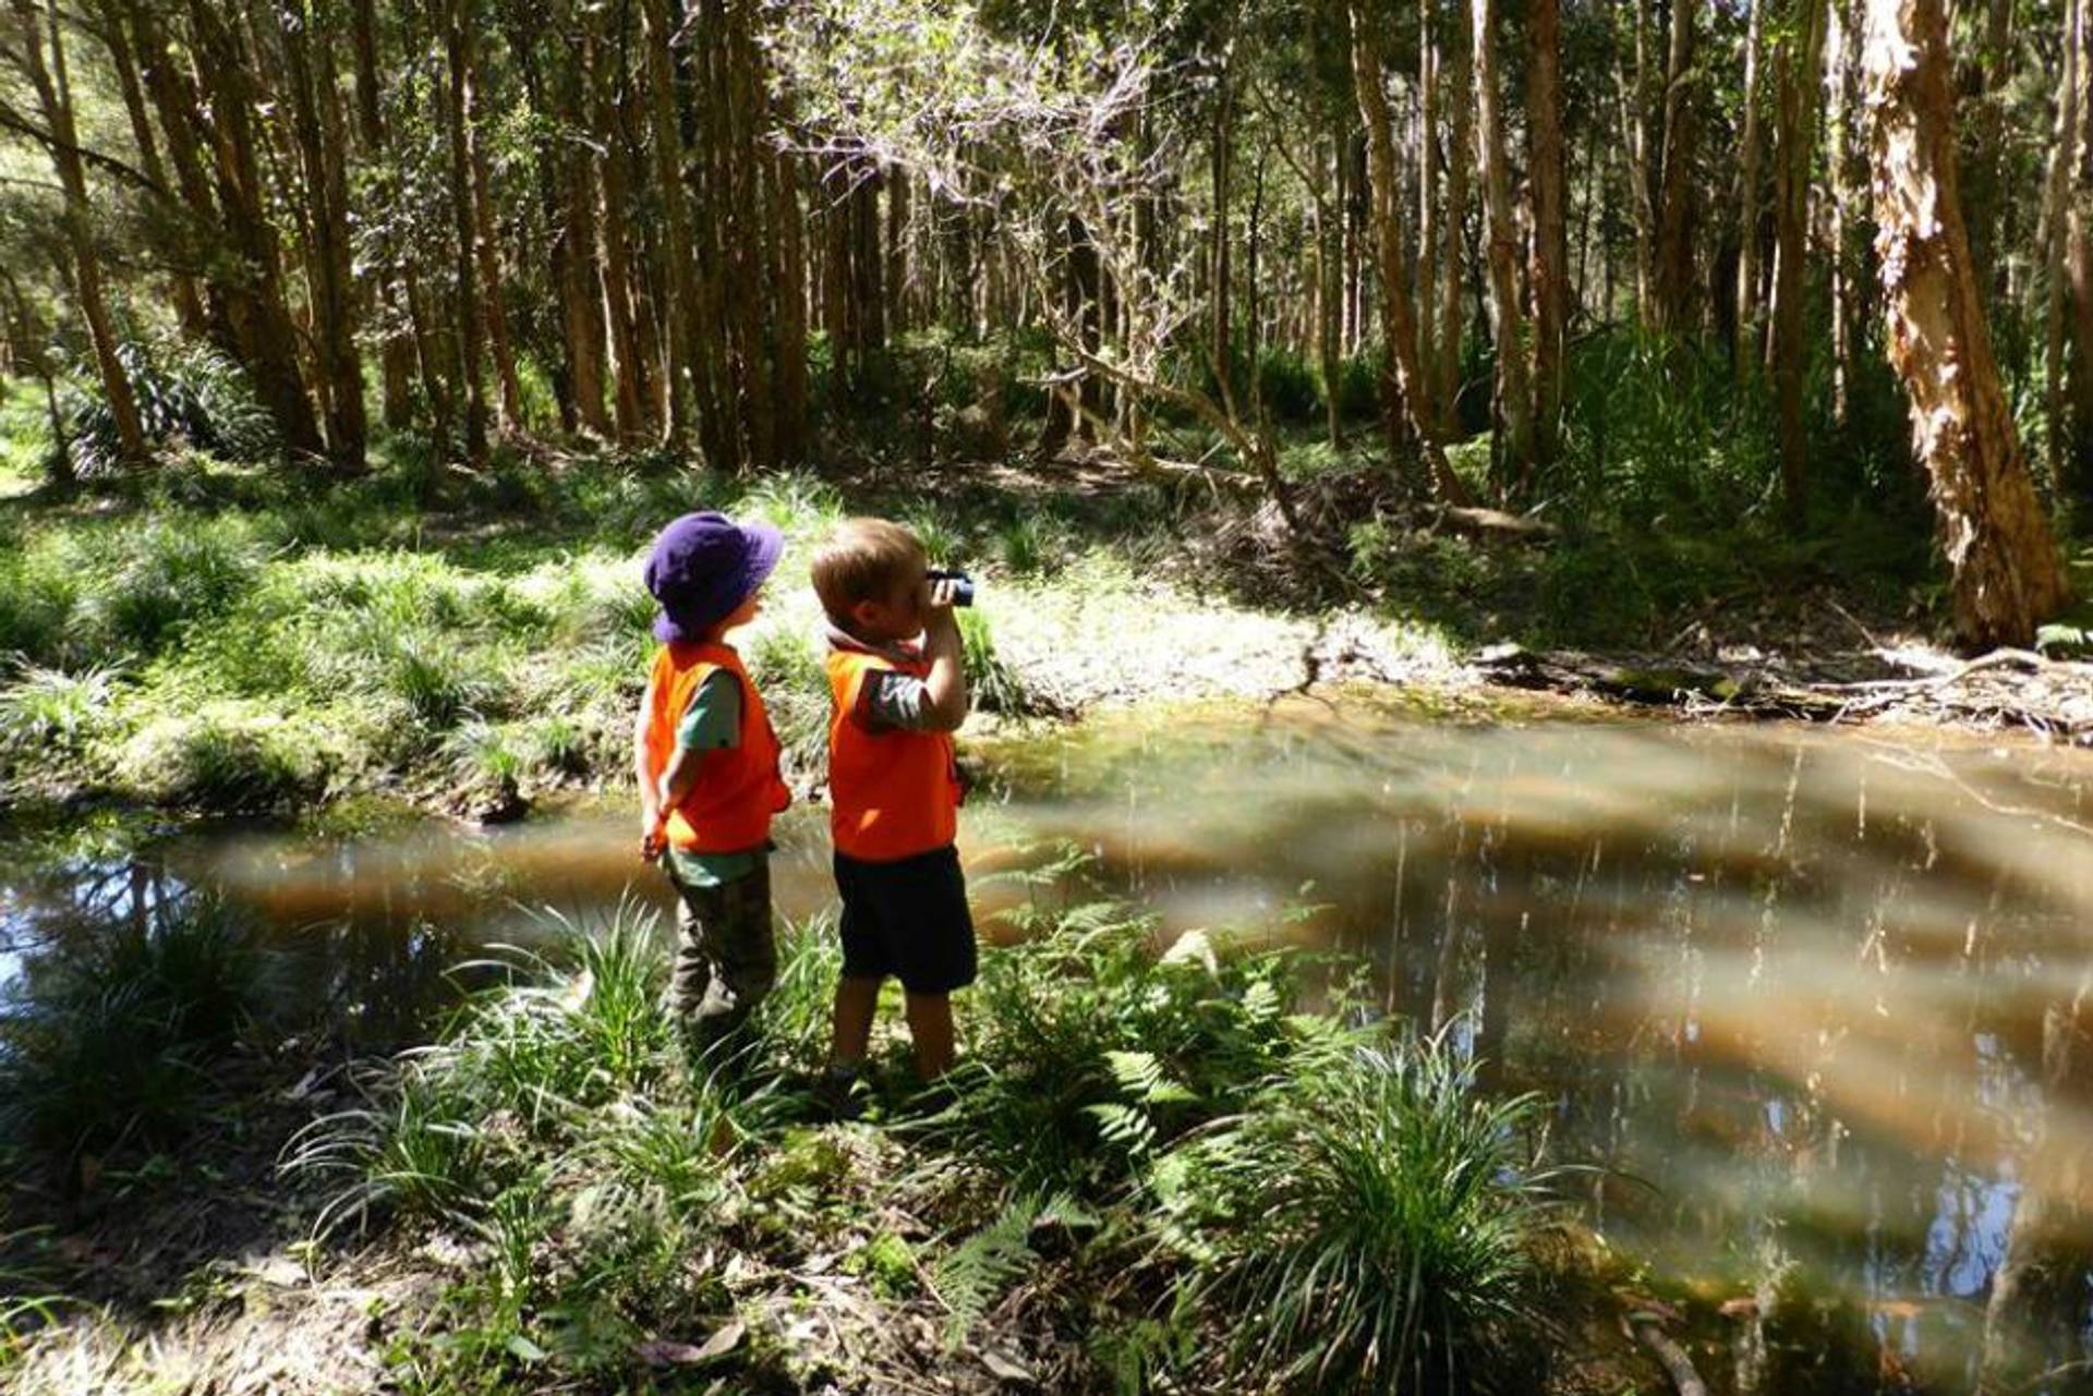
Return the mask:
<path id="1" fill-rule="evenodd" d="M 672 1005 L 697 1053 L 730 1036 L 777 982 L 770 818 L 791 804 L 762 695 L 726 643 L 756 620 L 785 550 L 766 525 L 691 513 L 647 559 L 653 670 L 632 726 L 640 856 L 676 885 Z"/>

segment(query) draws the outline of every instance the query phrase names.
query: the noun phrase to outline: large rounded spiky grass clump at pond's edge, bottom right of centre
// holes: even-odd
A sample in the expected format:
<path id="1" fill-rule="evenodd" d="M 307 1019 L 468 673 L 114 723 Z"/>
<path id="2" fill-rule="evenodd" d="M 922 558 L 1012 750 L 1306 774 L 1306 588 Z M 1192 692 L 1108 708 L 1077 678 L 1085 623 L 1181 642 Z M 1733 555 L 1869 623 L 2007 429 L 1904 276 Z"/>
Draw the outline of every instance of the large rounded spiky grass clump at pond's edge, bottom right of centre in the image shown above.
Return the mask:
<path id="1" fill-rule="evenodd" d="M 1229 1365 L 1287 1390 L 1530 1390 L 1551 1300 L 1532 1097 L 1488 1099 L 1446 1034 L 1327 1021 L 1155 1170 L 1166 1247 L 1237 1321 Z"/>

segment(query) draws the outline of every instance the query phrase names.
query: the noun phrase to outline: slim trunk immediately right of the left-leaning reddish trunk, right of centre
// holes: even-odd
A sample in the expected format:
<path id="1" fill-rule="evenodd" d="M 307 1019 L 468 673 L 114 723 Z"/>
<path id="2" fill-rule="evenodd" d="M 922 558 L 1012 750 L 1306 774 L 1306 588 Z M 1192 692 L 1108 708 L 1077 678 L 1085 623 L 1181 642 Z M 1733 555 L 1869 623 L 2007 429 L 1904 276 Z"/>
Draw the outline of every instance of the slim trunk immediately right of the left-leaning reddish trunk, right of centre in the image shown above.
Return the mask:
<path id="1" fill-rule="evenodd" d="M 1496 335 L 1501 435 L 1490 454 L 1499 460 L 1499 486 L 1524 494 L 1532 488 L 1534 477 L 1534 389 L 1526 358 L 1526 324 L 1520 314 L 1520 230 L 1511 220 L 1511 167 L 1505 157 L 1505 117 L 1499 107 L 1496 0 L 1471 0 L 1469 17 L 1473 21 L 1476 115 L 1482 119 L 1476 128 L 1476 163 L 1482 170 L 1490 318 Z M 1561 226 L 1559 213 L 1561 209 L 1557 209 L 1557 230 Z"/>

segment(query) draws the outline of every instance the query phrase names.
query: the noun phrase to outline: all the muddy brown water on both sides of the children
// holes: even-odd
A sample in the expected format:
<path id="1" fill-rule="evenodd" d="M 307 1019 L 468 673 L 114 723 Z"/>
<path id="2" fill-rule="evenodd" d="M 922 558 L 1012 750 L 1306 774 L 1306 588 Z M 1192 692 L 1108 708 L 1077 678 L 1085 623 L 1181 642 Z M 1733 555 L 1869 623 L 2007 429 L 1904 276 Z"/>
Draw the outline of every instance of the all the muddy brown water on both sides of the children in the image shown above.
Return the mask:
<path id="1" fill-rule="evenodd" d="M 984 908 L 1019 896 L 992 869 L 1065 839 L 1172 929 L 1365 956 L 1390 1011 L 1450 1023 L 1496 1088 L 1547 1101 L 1555 1155 L 1605 1166 L 1576 1185 L 1586 1216 L 1656 1275 L 1739 1300 L 1737 1333 L 1787 1275 L 1836 1302 L 1817 1321 L 1871 1369 L 1965 1390 L 2016 1210 L 2087 1201 L 2068 1189 L 2093 1159 L 2093 1063 L 2045 1072 L 2045 1023 L 2055 1057 L 2093 998 L 2093 758 L 1300 701 L 990 764 L 963 837 Z M 220 833 L 0 873 L 0 936 L 36 952 L 84 902 L 213 887 L 322 946 L 312 992 L 398 1030 L 475 944 L 542 936 L 534 906 L 659 904 L 630 843 L 615 810 Z M 779 902 L 820 908 L 818 816 L 781 843 Z M 2078 1335 L 2053 1358 L 2085 1358 L 2087 1273 L 2062 1285 Z"/>

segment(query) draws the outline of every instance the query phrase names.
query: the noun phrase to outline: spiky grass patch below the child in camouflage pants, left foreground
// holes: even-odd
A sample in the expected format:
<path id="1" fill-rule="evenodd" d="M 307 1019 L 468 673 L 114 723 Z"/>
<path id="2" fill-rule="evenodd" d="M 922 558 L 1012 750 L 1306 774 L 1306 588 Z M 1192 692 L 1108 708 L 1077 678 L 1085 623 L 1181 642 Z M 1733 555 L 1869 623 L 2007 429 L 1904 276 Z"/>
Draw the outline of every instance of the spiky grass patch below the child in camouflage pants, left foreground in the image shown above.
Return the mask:
<path id="1" fill-rule="evenodd" d="M 283 1166 L 341 1180 L 322 1235 L 389 1216 L 486 1256 L 398 1373 L 427 1390 L 624 1373 L 640 1337 L 720 1312 L 695 1258 L 735 1214 L 751 1105 L 684 1061 L 651 913 L 555 919 L 546 952 L 467 969 L 498 982 L 435 1044 L 373 1067 L 366 1103 L 316 1120 Z"/>

